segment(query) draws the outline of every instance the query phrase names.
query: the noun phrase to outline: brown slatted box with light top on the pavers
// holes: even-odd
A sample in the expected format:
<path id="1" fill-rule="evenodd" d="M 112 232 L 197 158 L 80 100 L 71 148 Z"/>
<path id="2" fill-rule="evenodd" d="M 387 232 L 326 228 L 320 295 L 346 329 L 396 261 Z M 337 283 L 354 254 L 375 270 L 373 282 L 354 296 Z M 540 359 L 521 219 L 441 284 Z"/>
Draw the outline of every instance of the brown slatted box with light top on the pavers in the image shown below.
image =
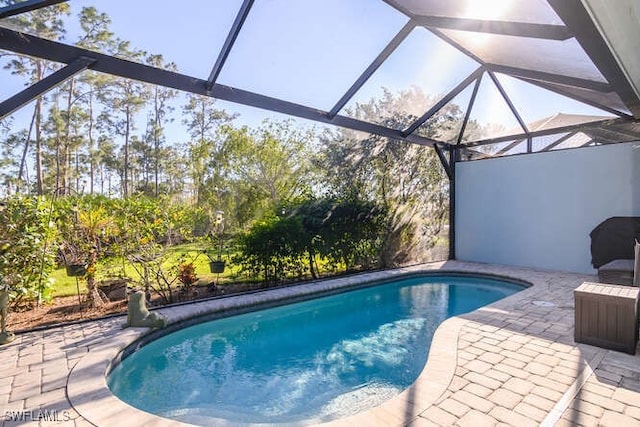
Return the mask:
<path id="1" fill-rule="evenodd" d="M 574 290 L 576 342 L 635 354 L 637 287 L 584 282 Z"/>

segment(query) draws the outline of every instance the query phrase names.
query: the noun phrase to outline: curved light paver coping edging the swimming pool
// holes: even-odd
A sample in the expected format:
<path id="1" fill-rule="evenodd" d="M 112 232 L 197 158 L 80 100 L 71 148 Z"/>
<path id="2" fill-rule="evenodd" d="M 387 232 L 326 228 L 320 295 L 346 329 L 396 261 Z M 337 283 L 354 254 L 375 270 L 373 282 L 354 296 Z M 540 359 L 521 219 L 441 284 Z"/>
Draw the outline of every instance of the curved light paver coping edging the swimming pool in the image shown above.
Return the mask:
<path id="1" fill-rule="evenodd" d="M 449 264 L 449 265 L 447 265 Z M 216 311 L 219 314 L 235 314 L 239 308 L 256 309 L 260 306 L 278 303 L 289 303 L 330 293 L 337 293 L 386 281 L 399 277 L 419 274 L 478 274 L 483 277 L 493 277 L 515 281 L 526 285 L 528 289 L 484 306 L 476 311 L 500 310 L 503 304 L 513 304 L 517 299 L 527 298 L 527 295 L 540 284 L 537 280 L 527 277 L 522 269 L 504 269 L 496 274 L 495 266 L 487 271 L 482 264 L 466 263 L 433 263 L 393 270 L 384 270 L 344 278 L 328 279 L 311 282 L 295 287 L 276 288 L 273 290 L 230 296 L 229 298 L 204 301 L 191 305 L 182 305 L 158 310 L 168 318 L 169 325 L 184 324 L 202 316 L 211 317 Z M 124 319 L 123 319 L 124 320 Z M 406 390 L 394 398 L 369 410 L 345 418 L 328 421 L 323 425 L 353 426 L 372 424 L 372 421 L 384 424 L 402 424 L 408 419 L 415 419 L 418 415 L 434 404 L 447 390 L 456 369 L 458 335 L 460 328 L 467 322 L 461 317 L 451 317 L 437 328 L 433 337 L 427 363 L 416 379 Z M 195 323 L 195 322 L 194 322 Z M 107 386 L 107 375 L 112 366 L 117 363 L 119 356 L 126 349 L 136 343 L 144 344 L 144 337 L 154 335 L 149 328 L 126 328 L 106 343 L 102 342 L 90 347 L 90 352 L 80 359 L 69 374 L 67 381 L 67 397 L 75 410 L 87 421 L 95 425 L 113 425 L 118 422 L 126 425 L 142 424 L 154 426 L 176 426 L 186 424 L 176 420 L 153 415 L 128 405 L 118 399 Z M 140 340 L 143 341 L 140 341 Z M 96 405 L 95 401 L 100 400 Z M 264 425 L 264 424 L 260 424 Z"/>

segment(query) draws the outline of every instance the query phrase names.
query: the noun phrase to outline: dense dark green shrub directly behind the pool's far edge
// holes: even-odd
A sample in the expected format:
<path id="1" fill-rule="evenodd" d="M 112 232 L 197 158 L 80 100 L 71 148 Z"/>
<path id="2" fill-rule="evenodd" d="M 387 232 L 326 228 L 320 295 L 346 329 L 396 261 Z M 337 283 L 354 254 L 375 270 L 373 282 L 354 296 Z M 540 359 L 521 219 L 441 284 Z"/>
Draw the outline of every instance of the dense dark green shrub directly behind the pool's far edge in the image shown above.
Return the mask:
<path id="1" fill-rule="evenodd" d="M 318 277 L 316 258 L 334 270 L 378 266 L 387 235 L 385 211 L 359 200 L 310 200 L 282 217 L 254 224 L 238 239 L 235 262 L 266 283 Z"/>

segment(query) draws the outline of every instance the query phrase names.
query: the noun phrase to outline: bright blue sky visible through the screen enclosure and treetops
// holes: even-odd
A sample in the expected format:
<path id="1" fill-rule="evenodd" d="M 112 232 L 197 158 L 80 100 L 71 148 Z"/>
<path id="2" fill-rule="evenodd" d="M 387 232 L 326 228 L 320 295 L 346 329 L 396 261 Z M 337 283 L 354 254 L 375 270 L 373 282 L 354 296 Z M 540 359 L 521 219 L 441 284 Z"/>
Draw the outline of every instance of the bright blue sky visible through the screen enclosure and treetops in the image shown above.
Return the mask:
<path id="1" fill-rule="evenodd" d="M 208 78 L 241 3 L 241 0 L 69 1 L 73 15 L 83 6 L 95 6 L 111 17 L 111 29 L 118 37 L 131 41 L 135 48 L 161 53 L 166 61 L 175 62 L 181 73 L 202 79 Z M 383 1 L 257 0 L 218 83 L 328 111 L 407 20 Z M 73 42 L 79 27 L 70 20 L 68 28 L 66 41 Z M 378 96 L 382 87 L 397 92 L 417 86 L 426 93 L 445 94 L 477 66 L 424 28 L 416 28 L 347 108 Z M 0 73 L 1 98 L 21 89 L 19 79 L 4 70 Z M 516 107 L 525 112 L 525 122 L 560 110 L 602 115 L 598 110 L 549 95 L 542 89 L 532 90 L 515 79 L 504 78 L 502 82 L 514 93 Z M 488 78 L 483 79 L 480 94 L 472 119 L 482 124 L 499 122 L 507 129 L 517 127 Z M 460 103 L 466 105 L 468 97 L 468 91 L 461 94 Z M 176 113 L 183 99 L 184 95 L 176 100 Z M 414 106 L 414 113 L 419 115 L 430 106 Z M 257 126 L 265 118 L 286 118 L 224 101 L 218 101 L 218 107 L 238 113 L 239 125 Z M 29 110 L 26 107 L 16 113 L 15 123 L 28 122 Z M 146 115 L 142 113 L 137 120 L 139 132 L 144 131 L 145 121 Z M 169 142 L 188 139 L 179 118 L 167 129 L 167 139 Z"/>

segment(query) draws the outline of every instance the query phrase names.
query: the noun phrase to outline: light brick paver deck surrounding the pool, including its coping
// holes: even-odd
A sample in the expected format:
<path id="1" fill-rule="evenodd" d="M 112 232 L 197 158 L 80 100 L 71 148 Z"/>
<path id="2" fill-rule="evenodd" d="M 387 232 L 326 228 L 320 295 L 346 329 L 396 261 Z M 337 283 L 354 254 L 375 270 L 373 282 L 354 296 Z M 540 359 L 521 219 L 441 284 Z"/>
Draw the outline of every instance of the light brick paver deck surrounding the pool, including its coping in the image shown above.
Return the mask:
<path id="1" fill-rule="evenodd" d="M 640 356 L 573 341 L 572 291 L 594 276 L 446 262 L 161 311 L 177 322 L 233 304 L 421 270 L 496 274 L 533 286 L 445 321 L 414 385 L 376 408 L 330 424 L 640 426 Z M 117 317 L 24 333 L 1 346 L 2 425 L 176 425 L 131 408 L 106 388 L 110 361 L 147 332 L 123 330 L 123 322 Z M 15 415 L 23 419 L 10 420 Z"/>

